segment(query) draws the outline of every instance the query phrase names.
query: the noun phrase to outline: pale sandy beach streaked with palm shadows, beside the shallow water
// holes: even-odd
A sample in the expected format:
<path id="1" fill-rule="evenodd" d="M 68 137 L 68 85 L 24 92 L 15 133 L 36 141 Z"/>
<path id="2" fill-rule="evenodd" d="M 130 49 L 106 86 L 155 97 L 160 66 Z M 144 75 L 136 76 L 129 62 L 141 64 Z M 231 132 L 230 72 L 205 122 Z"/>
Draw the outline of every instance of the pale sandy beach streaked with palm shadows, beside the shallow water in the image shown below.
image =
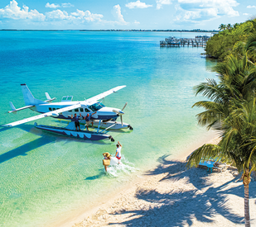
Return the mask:
<path id="1" fill-rule="evenodd" d="M 105 196 L 87 210 L 54 226 L 243 226 L 244 187 L 234 168 L 223 173 L 186 169 L 186 157 L 213 134 L 190 146 L 176 157 L 159 158 L 159 165 Z M 252 226 L 256 214 L 256 183 L 250 184 Z M 170 223 L 171 221 L 171 223 Z"/>

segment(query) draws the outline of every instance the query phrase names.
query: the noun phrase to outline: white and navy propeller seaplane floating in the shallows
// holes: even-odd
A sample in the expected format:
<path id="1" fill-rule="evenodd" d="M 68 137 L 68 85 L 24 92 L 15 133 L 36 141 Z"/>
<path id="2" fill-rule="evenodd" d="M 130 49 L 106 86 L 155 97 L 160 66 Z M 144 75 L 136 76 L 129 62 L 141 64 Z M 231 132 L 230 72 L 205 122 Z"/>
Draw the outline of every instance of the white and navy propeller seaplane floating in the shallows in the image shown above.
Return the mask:
<path id="1" fill-rule="evenodd" d="M 123 122 L 123 109 L 126 107 L 127 103 L 123 106 L 123 109 L 120 110 L 114 107 L 104 106 L 100 100 L 103 100 L 104 97 L 109 96 L 114 92 L 118 92 L 118 90 L 122 89 L 124 86 L 118 86 L 110 89 L 107 92 L 100 93 L 94 97 L 90 97 L 89 99 L 85 99 L 85 101 L 72 101 L 72 96 L 62 97 L 61 102 L 52 102 L 56 100 L 56 98 L 51 98 L 50 95 L 46 92 L 46 101 L 41 101 L 36 99 L 27 85 L 21 84 L 23 98 L 26 106 L 16 109 L 15 106 L 10 102 L 10 106 L 12 111 L 8 111 L 8 113 L 17 113 L 17 111 L 22 111 L 25 109 L 31 109 L 32 111 L 36 111 L 40 113 L 37 116 L 31 116 L 26 119 L 15 121 L 6 125 L 2 125 L 4 127 L 13 127 L 16 125 L 22 125 L 24 123 L 30 121 L 36 121 L 41 118 L 45 118 L 47 116 L 51 116 L 60 120 L 70 121 L 69 125 L 66 127 L 54 127 L 49 125 L 37 125 L 35 123 L 36 128 L 41 130 L 48 130 L 51 132 L 55 132 L 61 135 L 70 135 L 75 136 L 77 138 L 85 139 L 85 140 L 103 140 L 109 139 L 114 141 L 111 135 L 107 135 L 104 130 L 107 132 L 108 129 L 123 129 L 128 128 L 133 130 L 131 125 Z M 72 116 L 77 114 L 77 116 L 82 116 L 80 122 L 85 123 L 83 118 L 89 113 L 91 115 L 91 119 L 95 121 L 94 125 L 98 126 L 98 130 L 94 131 L 86 131 L 86 130 L 75 130 L 74 121 L 72 121 Z M 94 115 L 92 115 L 94 113 Z M 120 116 L 121 122 L 117 122 L 117 118 Z M 103 127 L 104 130 L 99 131 L 99 128 Z"/>

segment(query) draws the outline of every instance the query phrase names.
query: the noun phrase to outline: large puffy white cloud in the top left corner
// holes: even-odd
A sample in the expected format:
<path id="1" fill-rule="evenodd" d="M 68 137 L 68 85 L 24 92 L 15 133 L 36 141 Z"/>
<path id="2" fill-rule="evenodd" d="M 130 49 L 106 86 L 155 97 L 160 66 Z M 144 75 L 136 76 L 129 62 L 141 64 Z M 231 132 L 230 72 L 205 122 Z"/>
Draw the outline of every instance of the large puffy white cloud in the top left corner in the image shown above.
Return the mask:
<path id="1" fill-rule="evenodd" d="M 46 16 L 36 11 L 36 9 L 29 11 L 27 6 L 17 6 L 15 0 L 10 1 L 10 4 L 4 8 L 0 8 L 0 17 L 9 18 L 13 20 L 31 20 L 31 21 L 45 21 Z"/>

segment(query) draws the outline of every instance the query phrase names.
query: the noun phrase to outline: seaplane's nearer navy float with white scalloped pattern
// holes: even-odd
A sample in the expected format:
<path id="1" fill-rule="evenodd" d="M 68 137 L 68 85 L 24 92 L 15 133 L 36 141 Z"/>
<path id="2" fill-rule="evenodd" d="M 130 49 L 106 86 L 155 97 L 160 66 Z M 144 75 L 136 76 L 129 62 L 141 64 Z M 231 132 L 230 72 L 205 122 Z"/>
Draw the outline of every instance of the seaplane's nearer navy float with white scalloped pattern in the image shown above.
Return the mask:
<path id="1" fill-rule="evenodd" d="M 106 140 L 107 139 L 107 140 L 111 140 L 111 142 L 114 142 L 114 138 L 111 135 L 108 135 L 106 130 L 101 130 L 101 131 L 97 130 L 96 132 L 88 131 L 88 130 L 75 130 L 74 121 L 71 121 L 65 127 L 37 125 L 36 122 L 34 125 L 37 129 L 46 130 L 52 133 L 66 135 L 66 136 L 74 137 L 77 139 L 82 139 L 82 140 Z"/>

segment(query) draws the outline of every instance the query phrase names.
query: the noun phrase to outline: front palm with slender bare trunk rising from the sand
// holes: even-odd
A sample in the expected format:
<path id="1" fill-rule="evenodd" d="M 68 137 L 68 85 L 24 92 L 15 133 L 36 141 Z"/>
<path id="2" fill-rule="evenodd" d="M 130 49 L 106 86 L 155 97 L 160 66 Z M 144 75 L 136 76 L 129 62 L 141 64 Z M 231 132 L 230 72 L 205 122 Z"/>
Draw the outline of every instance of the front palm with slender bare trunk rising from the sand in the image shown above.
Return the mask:
<path id="1" fill-rule="evenodd" d="M 250 174 L 256 170 L 256 98 L 249 102 L 232 98 L 229 116 L 220 125 L 220 143 L 204 144 L 191 154 L 187 166 L 197 166 L 200 160 L 233 162 L 242 174 L 244 183 L 244 219 L 249 220 L 249 182 Z"/>

